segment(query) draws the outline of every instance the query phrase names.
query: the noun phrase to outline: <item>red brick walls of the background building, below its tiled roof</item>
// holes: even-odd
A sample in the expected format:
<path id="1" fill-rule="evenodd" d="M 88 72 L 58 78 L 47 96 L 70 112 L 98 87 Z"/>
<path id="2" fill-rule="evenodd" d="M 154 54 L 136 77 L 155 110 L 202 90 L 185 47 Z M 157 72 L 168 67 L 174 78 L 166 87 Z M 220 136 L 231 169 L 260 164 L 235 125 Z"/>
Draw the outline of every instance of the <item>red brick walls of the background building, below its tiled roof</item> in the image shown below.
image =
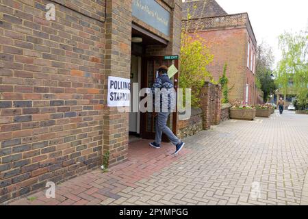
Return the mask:
<path id="1" fill-rule="evenodd" d="M 214 60 L 207 70 L 218 80 L 227 63 L 231 101 L 245 101 L 246 83 L 249 85 L 248 102 L 255 102 L 255 75 L 247 68 L 248 40 L 255 51 L 256 40 L 248 14 L 230 14 L 183 21 L 188 31 L 204 38 Z"/>

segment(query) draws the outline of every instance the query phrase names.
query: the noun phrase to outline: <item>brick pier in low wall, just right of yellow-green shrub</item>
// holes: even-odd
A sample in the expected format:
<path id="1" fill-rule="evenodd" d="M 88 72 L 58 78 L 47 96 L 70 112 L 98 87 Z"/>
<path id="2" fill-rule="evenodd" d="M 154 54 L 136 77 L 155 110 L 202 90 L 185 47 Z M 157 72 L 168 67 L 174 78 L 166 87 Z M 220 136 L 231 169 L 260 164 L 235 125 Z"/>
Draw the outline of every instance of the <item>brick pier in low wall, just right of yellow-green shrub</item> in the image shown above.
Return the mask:
<path id="1" fill-rule="evenodd" d="M 201 88 L 201 109 L 203 111 L 203 129 L 207 130 L 211 127 L 211 117 L 209 104 L 211 102 L 211 83 L 205 82 L 203 88 Z"/>

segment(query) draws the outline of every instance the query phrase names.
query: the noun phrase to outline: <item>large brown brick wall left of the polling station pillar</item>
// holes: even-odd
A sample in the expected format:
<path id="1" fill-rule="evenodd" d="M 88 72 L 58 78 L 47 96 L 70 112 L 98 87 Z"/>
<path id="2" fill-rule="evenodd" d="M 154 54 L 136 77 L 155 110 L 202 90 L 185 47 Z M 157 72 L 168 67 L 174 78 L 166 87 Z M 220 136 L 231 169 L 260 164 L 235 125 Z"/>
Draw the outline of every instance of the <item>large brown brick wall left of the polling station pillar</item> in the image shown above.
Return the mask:
<path id="1" fill-rule="evenodd" d="M 0 203 L 101 163 L 105 4 L 57 2 L 0 3 Z"/>

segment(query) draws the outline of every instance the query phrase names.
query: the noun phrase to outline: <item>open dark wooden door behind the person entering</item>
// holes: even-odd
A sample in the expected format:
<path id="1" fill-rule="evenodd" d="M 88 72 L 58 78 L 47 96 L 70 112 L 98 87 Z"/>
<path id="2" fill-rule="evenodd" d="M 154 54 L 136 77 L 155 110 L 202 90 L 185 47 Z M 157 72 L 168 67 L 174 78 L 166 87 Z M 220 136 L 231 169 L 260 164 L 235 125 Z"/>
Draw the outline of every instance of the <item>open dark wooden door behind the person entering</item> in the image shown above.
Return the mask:
<path id="1" fill-rule="evenodd" d="M 159 66 L 171 66 L 175 65 L 177 69 L 179 69 L 179 60 L 165 60 L 164 56 L 155 56 L 155 57 L 143 57 L 142 58 L 142 74 L 141 74 L 141 88 L 151 88 L 154 83 L 156 71 Z M 175 74 L 171 78 L 171 81 L 175 85 L 175 89 L 178 86 L 178 76 L 179 73 Z M 155 118 L 153 117 L 153 113 L 146 112 L 141 114 L 140 120 L 140 132 L 142 138 L 146 139 L 154 139 L 155 138 Z M 170 114 L 167 122 L 168 127 L 177 134 L 177 112 L 173 112 Z M 168 141 L 166 136 L 162 136 L 163 141 Z"/>

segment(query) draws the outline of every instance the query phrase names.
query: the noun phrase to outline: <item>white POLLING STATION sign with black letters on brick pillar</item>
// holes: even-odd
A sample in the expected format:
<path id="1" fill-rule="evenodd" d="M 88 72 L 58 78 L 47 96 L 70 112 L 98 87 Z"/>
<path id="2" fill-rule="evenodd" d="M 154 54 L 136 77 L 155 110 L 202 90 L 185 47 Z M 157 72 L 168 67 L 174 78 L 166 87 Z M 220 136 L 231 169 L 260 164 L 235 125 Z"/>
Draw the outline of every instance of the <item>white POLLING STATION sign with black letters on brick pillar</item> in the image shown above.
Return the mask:
<path id="1" fill-rule="evenodd" d="M 108 107 L 129 107 L 131 80 L 123 77 L 108 77 Z"/>

